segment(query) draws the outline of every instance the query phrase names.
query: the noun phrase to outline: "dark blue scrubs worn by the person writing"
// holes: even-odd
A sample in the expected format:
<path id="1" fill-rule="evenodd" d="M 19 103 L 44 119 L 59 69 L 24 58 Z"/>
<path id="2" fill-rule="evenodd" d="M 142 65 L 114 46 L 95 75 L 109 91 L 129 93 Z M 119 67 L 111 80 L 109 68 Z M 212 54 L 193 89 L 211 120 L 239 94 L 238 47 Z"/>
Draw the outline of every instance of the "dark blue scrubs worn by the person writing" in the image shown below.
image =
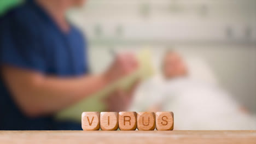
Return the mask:
<path id="1" fill-rule="evenodd" d="M 88 72 L 86 43 L 71 25 L 64 33 L 33 1 L 27 1 L 0 19 L 1 65 L 38 71 L 60 77 Z M 36 97 L 36 95 L 35 95 Z M 71 122 L 56 122 L 53 116 L 28 118 L 14 103 L 3 77 L 0 79 L 0 130 L 80 130 Z"/>

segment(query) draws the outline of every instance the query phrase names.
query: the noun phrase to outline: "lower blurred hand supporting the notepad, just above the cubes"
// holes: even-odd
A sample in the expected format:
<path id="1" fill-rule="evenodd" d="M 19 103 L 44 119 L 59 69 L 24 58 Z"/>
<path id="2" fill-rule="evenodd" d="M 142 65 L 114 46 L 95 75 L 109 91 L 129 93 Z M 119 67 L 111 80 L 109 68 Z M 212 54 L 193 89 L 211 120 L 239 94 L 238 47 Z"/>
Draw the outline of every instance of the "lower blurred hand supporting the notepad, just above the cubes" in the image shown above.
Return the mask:
<path id="1" fill-rule="evenodd" d="M 139 80 L 137 80 L 133 84 L 133 86 L 129 89 L 129 91 L 117 89 L 113 93 L 109 94 L 108 97 L 103 100 L 107 106 L 107 111 L 112 111 L 112 112 L 126 111 L 131 104 L 133 94 L 138 84 L 139 84 Z"/>

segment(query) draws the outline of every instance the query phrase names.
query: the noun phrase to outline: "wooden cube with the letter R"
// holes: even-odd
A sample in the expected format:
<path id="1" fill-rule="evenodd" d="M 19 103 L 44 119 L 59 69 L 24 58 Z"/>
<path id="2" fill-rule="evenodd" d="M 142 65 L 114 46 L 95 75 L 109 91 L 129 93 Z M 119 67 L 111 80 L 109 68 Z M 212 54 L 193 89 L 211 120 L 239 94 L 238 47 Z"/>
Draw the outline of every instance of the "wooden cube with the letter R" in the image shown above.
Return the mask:
<path id="1" fill-rule="evenodd" d="M 136 130 L 137 113 L 136 112 L 119 112 L 119 129 Z"/>

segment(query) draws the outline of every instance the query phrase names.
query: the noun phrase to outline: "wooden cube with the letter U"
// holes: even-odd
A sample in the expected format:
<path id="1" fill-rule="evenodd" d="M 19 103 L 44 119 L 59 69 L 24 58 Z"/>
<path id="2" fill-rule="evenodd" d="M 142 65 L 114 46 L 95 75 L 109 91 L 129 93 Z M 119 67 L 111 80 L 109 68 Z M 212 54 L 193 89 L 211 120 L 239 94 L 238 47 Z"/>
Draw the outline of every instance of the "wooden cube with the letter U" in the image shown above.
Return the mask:
<path id="1" fill-rule="evenodd" d="M 154 112 L 138 112 L 137 127 L 138 127 L 138 130 L 154 130 L 155 129 L 155 113 Z"/>

